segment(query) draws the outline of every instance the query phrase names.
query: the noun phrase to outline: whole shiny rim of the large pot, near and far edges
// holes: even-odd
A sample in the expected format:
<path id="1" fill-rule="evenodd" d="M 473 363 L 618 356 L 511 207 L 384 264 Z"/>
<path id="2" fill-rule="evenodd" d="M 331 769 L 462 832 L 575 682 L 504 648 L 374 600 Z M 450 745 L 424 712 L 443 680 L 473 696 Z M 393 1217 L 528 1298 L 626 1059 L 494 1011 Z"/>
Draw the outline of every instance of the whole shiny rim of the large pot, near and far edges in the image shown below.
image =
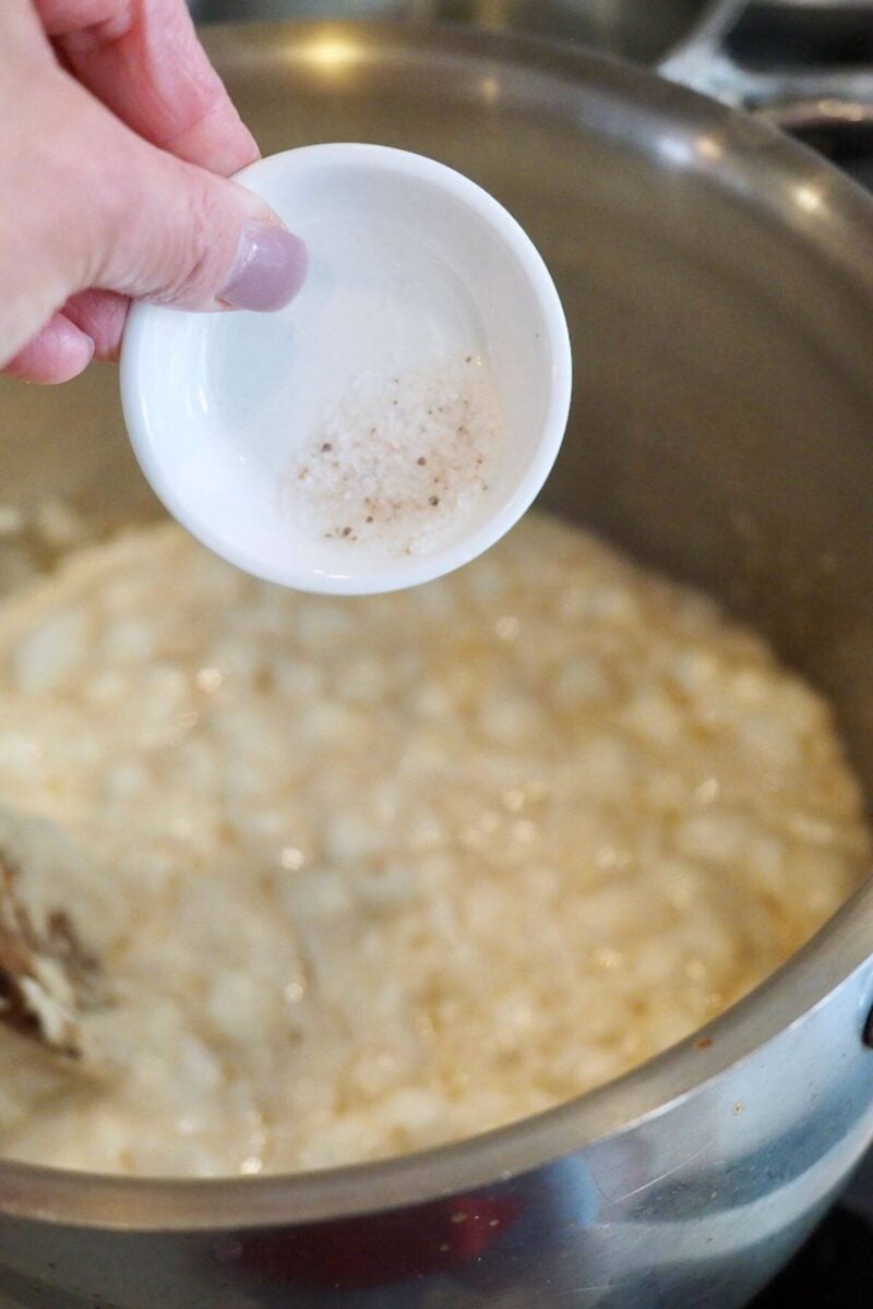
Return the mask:
<path id="1" fill-rule="evenodd" d="M 431 54 L 435 47 L 449 52 L 461 48 L 474 58 L 508 59 L 527 68 L 533 64 L 543 73 L 567 77 L 576 89 L 584 84 L 626 107 L 630 101 L 637 113 L 653 114 L 660 122 L 673 117 L 686 131 L 717 130 L 725 157 L 734 156 L 734 169 L 750 174 L 758 192 L 766 166 L 772 183 L 766 202 L 779 209 L 787 225 L 802 224 L 808 241 L 814 241 L 815 228 L 821 228 L 822 257 L 835 275 L 851 278 L 864 291 L 873 313 L 870 259 L 855 254 L 873 250 L 869 196 L 811 151 L 737 110 L 630 64 L 527 37 L 429 30 L 423 38 L 408 27 L 386 24 L 228 24 L 209 29 L 205 43 L 219 68 L 242 33 L 246 46 L 258 47 L 258 55 L 272 54 L 283 63 L 305 59 L 305 43 L 301 55 L 288 39 L 276 42 L 283 29 L 287 38 L 292 31 L 342 33 L 344 41 L 359 41 L 364 50 L 374 31 L 382 37 L 391 33 L 404 47 L 427 42 Z M 737 178 L 728 178 L 725 186 L 732 182 Z M 788 211 L 791 188 L 804 186 L 826 190 L 827 204 L 815 215 Z M 873 1005 L 872 952 L 873 878 L 868 878 L 800 952 L 713 1022 L 623 1077 L 531 1118 L 398 1158 L 267 1177 L 126 1178 L 0 1161 L 0 1215 L 115 1230 L 245 1230 L 372 1215 L 476 1191 L 666 1113 L 728 1068 L 753 1058 L 869 963 L 870 995 L 853 1030 L 846 1034 L 847 1041 L 861 1041 Z"/>

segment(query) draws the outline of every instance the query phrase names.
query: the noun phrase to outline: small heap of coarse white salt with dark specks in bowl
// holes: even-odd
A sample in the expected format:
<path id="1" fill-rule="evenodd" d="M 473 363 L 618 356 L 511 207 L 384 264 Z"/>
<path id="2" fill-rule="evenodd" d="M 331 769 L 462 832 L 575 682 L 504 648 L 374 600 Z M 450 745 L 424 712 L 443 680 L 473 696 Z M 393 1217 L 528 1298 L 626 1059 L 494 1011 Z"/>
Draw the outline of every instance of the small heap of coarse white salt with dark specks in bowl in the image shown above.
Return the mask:
<path id="1" fill-rule="evenodd" d="M 501 429 L 493 373 L 478 355 L 387 381 L 360 376 L 294 458 L 283 500 L 325 539 L 427 554 L 488 492 Z"/>

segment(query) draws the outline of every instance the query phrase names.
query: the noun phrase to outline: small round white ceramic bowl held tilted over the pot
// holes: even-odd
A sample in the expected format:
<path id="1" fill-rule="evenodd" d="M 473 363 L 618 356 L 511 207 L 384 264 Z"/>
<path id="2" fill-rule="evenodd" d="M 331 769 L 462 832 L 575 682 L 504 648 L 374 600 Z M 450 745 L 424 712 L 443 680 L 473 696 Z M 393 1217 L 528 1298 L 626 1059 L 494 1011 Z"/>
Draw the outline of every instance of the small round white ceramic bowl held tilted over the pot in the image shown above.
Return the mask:
<path id="1" fill-rule="evenodd" d="M 309 278 L 276 314 L 134 306 L 122 399 L 154 491 L 216 554 L 301 590 L 394 590 L 474 559 L 529 508 L 569 410 L 567 323 L 530 238 L 474 182 L 380 145 L 288 151 L 238 181 L 305 240 Z M 465 351 L 491 369 L 504 432 L 487 492 L 446 539 L 374 558 L 289 513 L 289 462 L 356 377 Z"/>

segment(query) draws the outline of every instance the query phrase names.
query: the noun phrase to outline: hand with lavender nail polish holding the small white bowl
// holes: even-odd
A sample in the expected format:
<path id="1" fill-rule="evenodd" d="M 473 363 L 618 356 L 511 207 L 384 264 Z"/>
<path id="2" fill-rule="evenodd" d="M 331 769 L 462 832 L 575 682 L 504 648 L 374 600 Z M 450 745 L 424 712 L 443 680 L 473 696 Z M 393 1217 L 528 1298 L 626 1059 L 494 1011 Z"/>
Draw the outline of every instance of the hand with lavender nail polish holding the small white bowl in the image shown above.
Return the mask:
<path id="1" fill-rule="evenodd" d="M 288 304 L 304 243 L 225 179 L 257 157 L 185 0 L 0 0 L 0 369 L 114 359 L 131 297 Z"/>

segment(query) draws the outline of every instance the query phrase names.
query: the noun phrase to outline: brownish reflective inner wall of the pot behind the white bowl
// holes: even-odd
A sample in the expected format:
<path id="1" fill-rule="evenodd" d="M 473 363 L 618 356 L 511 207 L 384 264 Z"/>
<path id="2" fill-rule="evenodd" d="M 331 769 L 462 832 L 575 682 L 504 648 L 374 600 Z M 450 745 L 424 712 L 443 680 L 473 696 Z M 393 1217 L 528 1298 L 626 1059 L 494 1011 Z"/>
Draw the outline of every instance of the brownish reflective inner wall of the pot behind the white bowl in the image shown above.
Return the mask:
<path id="1" fill-rule="evenodd" d="M 873 793 L 873 220 L 857 255 L 847 225 L 864 198 L 763 127 L 569 55 L 361 26 L 211 42 L 266 153 L 421 151 L 526 225 L 576 360 L 544 501 L 760 626 L 834 698 Z M 98 531 L 158 513 L 114 369 L 0 384 L 0 432 L 4 501 L 69 497 Z M 22 547 L 0 547 L 9 588 Z"/>

